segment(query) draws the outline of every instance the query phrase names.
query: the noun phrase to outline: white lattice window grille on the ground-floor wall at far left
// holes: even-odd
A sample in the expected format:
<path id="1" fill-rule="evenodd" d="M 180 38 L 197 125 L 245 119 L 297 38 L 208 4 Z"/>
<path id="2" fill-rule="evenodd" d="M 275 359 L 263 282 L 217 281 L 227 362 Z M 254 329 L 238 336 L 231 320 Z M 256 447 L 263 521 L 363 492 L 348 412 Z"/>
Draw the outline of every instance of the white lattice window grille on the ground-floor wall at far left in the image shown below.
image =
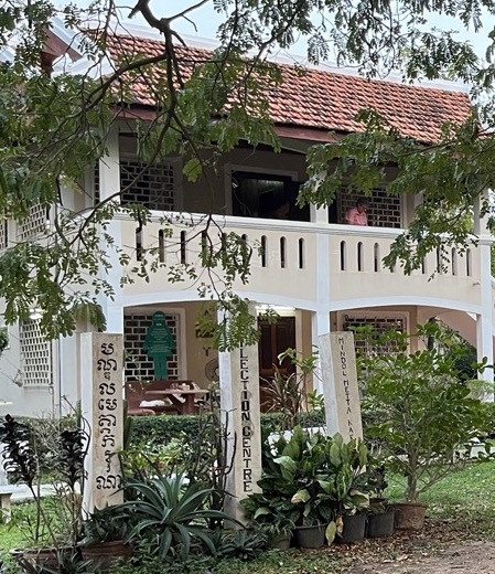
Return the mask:
<path id="1" fill-rule="evenodd" d="M 37 321 L 22 321 L 19 330 L 22 382 L 25 386 L 52 384 L 52 343 L 40 331 Z"/>

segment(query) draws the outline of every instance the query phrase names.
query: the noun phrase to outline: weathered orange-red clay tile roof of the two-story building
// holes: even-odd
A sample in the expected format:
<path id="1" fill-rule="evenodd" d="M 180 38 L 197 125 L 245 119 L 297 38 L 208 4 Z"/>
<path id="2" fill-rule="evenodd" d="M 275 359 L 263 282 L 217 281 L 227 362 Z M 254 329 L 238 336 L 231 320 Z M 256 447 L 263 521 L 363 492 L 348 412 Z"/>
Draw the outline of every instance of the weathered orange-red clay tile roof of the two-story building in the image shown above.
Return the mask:
<path id="1" fill-rule="evenodd" d="M 109 43 L 110 54 L 140 53 L 147 56 L 163 53 L 157 40 L 118 35 Z M 194 62 L 206 61 L 207 50 L 179 49 L 183 72 Z M 394 125 L 402 136 L 419 141 L 435 141 L 445 121 L 462 123 L 470 114 L 469 96 L 430 87 L 395 82 L 366 79 L 359 76 L 281 65 L 283 82 L 268 93 L 270 117 L 276 125 L 312 128 L 325 131 L 353 132 L 362 130 L 354 120 L 363 108 L 373 108 Z M 186 72 L 186 75 L 187 72 Z M 152 106 L 144 81 L 133 82 L 133 104 Z"/>

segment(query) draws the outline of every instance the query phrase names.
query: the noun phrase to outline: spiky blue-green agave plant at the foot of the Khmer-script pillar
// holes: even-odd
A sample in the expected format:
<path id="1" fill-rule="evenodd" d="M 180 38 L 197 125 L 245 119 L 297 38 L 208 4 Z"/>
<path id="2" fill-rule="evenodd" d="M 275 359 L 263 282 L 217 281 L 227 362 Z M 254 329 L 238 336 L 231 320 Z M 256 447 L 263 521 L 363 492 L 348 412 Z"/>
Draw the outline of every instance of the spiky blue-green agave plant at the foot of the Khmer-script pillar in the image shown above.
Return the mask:
<path id="1" fill-rule="evenodd" d="M 134 524 L 126 542 L 147 539 L 152 554 L 161 559 L 170 559 L 179 550 L 187 555 L 194 539 L 215 554 L 207 521 L 235 522 L 225 512 L 206 508 L 211 488 L 185 485 L 182 476 L 130 480 L 125 492 L 129 500 L 118 506 L 118 512 Z"/>

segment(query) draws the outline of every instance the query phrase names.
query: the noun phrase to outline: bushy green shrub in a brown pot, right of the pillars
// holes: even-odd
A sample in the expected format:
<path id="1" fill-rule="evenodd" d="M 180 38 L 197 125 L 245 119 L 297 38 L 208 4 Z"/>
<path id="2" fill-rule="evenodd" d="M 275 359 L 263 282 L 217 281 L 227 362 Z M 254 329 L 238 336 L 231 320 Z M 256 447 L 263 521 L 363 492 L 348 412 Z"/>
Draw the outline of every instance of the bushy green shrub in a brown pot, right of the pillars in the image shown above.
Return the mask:
<path id="1" fill-rule="evenodd" d="M 426 506 L 419 497 L 465 464 L 466 457 L 455 455 L 463 448 L 469 453 L 472 439 L 488 435 L 491 408 L 459 381 L 455 348 L 443 352 L 438 325 L 419 326 L 415 336 L 362 336 L 368 350 L 388 349 L 359 357 L 363 408 L 370 414 L 366 435 L 387 466 L 406 477 L 405 501 L 395 504 L 396 528 L 421 529 Z"/>

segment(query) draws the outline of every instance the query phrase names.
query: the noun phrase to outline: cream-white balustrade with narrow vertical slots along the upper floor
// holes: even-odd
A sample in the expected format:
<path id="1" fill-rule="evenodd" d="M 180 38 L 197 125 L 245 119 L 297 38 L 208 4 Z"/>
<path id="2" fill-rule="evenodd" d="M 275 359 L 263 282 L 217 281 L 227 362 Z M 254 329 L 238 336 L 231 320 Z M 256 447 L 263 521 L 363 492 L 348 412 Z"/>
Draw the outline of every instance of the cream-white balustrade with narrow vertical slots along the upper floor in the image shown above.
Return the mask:
<path id="1" fill-rule="evenodd" d="M 234 232 L 251 249 L 249 283 L 238 281 L 239 291 L 314 301 L 318 286 L 324 284 L 331 286 L 329 299 L 333 301 L 357 297 L 359 289 L 369 290 L 372 296 L 409 293 L 418 297 L 444 297 L 446 290 L 456 289 L 459 297 L 477 298 L 473 290 L 480 278 L 477 247 L 473 245 L 464 253 L 451 247 L 433 251 L 419 269 L 405 276 L 399 264 L 389 269 L 383 263 L 400 230 L 220 216 L 184 216 L 171 226 L 153 217 L 138 235 L 136 222 L 122 217 L 121 226 L 123 244 L 133 262 L 139 255 L 158 264 L 155 279 L 151 276 L 149 283 L 138 279 L 127 285 L 128 295 L 196 288 L 204 279 L 202 255 L 222 253 L 228 234 Z M 322 253 L 318 237 L 323 237 L 327 253 Z M 319 265 L 322 257 L 330 259 L 330 281 L 322 277 L 329 267 Z M 200 278 L 171 284 L 171 267 L 181 265 L 194 266 Z M 223 275 L 220 267 L 215 273 Z"/>

